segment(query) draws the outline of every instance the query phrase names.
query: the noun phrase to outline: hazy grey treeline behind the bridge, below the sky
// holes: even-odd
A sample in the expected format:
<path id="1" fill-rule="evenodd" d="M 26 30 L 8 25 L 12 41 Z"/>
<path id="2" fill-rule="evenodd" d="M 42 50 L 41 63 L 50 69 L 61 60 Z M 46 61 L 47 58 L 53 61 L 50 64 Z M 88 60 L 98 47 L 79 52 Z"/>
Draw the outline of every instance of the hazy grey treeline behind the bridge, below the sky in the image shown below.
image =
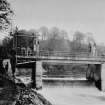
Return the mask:
<path id="1" fill-rule="evenodd" d="M 68 33 L 65 30 L 60 30 L 57 27 L 48 29 L 43 26 L 38 30 L 19 30 L 16 28 L 13 33 L 10 34 L 11 37 L 6 37 L 3 40 L 3 46 L 25 48 L 26 50 L 33 50 L 36 37 L 39 40 L 39 49 L 47 51 L 65 51 L 65 52 L 79 52 L 89 51 L 89 43 L 95 42 L 92 33 L 82 33 L 76 31 L 73 34 L 73 38 L 70 39 Z M 29 37 L 33 36 L 33 37 Z M 14 38 L 14 40 L 13 40 Z M 96 42 L 95 42 L 96 43 Z M 105 47 L 97 45 L 98 53 L 104 55 Z"/>

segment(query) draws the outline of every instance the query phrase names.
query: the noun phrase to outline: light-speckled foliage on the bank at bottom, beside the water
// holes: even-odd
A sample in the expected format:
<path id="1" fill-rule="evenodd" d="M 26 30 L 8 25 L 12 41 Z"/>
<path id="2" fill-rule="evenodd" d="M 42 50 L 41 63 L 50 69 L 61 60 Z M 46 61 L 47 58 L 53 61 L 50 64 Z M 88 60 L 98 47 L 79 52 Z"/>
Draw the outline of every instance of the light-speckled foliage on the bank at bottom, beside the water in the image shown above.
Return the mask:
<path id="1" fill-rule="evenodd" d="M 41 94 L 33 89 L 21 89 L 16 105 L 52 105 Z"/>

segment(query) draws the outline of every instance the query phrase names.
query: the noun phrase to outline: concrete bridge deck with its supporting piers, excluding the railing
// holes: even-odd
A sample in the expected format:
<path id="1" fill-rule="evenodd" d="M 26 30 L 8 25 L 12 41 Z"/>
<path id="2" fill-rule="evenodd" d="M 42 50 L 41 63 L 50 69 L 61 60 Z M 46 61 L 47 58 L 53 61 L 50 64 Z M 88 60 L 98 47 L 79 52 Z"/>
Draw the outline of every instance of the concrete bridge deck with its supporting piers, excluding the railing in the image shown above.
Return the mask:
<path id="1" fill-rule="evenodd" d="M 18 63 L 17 67 L 32 68 L 32 81 L 35 88 L 42 87 L 42 62 L 51 64 L 87 64 L 87 79 L 93 80 L 96 87 L 105 91 L 105 59 L 103 57 L 55 57 L 55 56 L 17 56 L 18 60 L 27 62 Z"/>

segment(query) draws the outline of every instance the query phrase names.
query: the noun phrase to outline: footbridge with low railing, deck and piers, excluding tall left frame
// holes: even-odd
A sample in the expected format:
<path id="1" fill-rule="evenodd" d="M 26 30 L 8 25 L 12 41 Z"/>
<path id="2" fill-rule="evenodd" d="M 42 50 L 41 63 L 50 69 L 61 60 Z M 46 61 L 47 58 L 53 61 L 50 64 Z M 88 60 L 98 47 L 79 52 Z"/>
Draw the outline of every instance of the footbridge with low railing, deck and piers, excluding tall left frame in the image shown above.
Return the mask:
<path id="1" fill-rule="evenodd" d="M 32 68 L 32 78 L 34 85 L 36 81 L 40 80 L 39 87 L 41 86 L 42 78 L 42 63 L 47 62 L 50 64 L 87 64 L 88 70 L 91 71 L 91 65 L 95 66 L 94 75 L 95 80 L 101 80 L 101 89 L 105 91 L 105 56 L 92 55 L 88 52 L 58 52 L 58 51 L 39 51 L 31 54 L 17 53 L 17 67 L 29 67 Z"/>

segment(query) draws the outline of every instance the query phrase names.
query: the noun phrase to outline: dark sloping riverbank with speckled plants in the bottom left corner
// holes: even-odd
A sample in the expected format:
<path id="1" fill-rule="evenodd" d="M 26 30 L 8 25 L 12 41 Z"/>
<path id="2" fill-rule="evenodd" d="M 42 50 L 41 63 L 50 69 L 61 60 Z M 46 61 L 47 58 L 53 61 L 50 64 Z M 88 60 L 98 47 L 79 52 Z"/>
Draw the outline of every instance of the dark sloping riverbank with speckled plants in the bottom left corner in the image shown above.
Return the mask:
<path id="1" fill-rule="evenodd" d="M 0 105 L 52 105 L 35 89 L 21 86 L 8 76 L 1 75 Z"/>

